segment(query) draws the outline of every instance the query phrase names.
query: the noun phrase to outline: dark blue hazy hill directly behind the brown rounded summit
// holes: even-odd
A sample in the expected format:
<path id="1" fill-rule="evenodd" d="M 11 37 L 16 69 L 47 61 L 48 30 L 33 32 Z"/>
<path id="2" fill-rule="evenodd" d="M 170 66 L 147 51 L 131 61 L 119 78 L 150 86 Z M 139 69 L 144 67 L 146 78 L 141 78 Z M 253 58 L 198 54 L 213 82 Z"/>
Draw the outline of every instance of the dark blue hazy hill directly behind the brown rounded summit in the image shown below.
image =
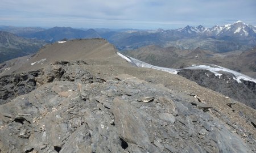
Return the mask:
<path id="1" fill-rule="evenodd" d="M 63 39 L 89 39 L 100 38 L 101 36 L 94 29 L 83 31 L 81 29 L 73 29 L 71 27 L 54 27 L 44 31 L 30 33 L 26 37 L 45 40 L 47 42 L 55 42 Z"/>

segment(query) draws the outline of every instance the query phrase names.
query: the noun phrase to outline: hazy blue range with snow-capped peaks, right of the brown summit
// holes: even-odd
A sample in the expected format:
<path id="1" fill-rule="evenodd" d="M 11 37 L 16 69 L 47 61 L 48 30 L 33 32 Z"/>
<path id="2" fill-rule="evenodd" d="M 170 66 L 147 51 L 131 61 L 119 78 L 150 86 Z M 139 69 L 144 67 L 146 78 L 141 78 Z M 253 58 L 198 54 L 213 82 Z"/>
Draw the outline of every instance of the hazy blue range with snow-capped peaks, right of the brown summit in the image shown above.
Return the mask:
<path id="1" fill-rule="evenodd" d="M 256 46 L 256 28 L 238 21 L 205 28 L 203 25 L 156 31 L 125 31 L 105 37 L 119 50 L 137 49 L 146 45 L 175 46 L 180 49 L 200 47 L 212 52 L 247 50 Z"/>

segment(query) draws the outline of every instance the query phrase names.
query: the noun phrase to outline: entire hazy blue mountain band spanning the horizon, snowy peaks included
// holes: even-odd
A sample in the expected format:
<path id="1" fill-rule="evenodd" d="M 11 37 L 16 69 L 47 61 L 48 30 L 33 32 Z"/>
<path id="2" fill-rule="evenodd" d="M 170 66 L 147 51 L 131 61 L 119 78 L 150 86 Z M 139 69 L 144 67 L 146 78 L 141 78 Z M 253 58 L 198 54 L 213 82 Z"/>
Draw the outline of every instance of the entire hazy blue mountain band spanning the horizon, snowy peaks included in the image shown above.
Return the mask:
<path id="1" fill-rule="evenodd" d="M 156 30 L 139 30 L 139 29 L 74 29 L 71 27 L 53 27 L 49 29 L 38 27 L 11 27 L 0 26 L 0 31 L 14 33 L 16 36 L 26 37 L 26 41 L 13 41 L 15 47 L 5 46 L 7 48 L 17 48 L 29 44 L 32 50 L 40 48 L 44 42 L 52 43 L 61 40 L 72 39 L 90 39 L 104 38 L 114 44 L 119 50 L 133 50 L 147 45 L 158 45 L 161 47 L 175 46 L 177 49 L 194 50 L 197 47 L 212 52 L 230 52 L 234 50 L 249 50 L 256 46 L 256 28 L 253 25 L 245 24 L 238 21 L 233 24 L 222 26 L 215 25 L 212 28 L 205 28 L 203 25 L 191 27 L 187 25 L 179 29 L 156 29 Z M 1 35 L 2 40 L 15 35 Z M 6 37 L 5 37 L 6 36 Z M 33 39 L 33 40 L 31 40 Z M 40 41 L 37 41 L 37 40 Z M 9 40 L 9 39 L 8 39 Z M 14 39 L 18 40 L 18 39 Z M 43 42 L 44 41 L 44 42 Z M 19 44 L 19 42 L 22 42 Z M 23 43 L 24 42 L 24 43 Z M 39 42 L 36 44 L 34 42 Z M 37 46 L 38 45 L 38 46 Z M 10 53 L 1 56 L 1 60 L 11 59 L 14 57 L 24 56 L 33 53 L 31 49 L 22 48 L 22 52 L 8 51 Z M 34 52 L 35 52 L 34 51 Z M 4 59 L 3 59 L 4 58 Z M 1 61 L 0 61 L 1 62 Z"/>

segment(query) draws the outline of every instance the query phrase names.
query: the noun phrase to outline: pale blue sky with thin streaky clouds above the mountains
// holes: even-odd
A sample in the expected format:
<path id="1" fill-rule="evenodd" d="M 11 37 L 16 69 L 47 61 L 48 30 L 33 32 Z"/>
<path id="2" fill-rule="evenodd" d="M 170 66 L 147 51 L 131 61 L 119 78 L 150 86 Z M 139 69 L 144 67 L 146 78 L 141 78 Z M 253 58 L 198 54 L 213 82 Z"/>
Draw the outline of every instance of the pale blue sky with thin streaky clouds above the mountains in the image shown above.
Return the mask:
<path id="1" fill-rule="evenodd" d="M 255 0 L 0 0 L 0 25 L 175 29 L 242 20 L 256 25 Z"/>

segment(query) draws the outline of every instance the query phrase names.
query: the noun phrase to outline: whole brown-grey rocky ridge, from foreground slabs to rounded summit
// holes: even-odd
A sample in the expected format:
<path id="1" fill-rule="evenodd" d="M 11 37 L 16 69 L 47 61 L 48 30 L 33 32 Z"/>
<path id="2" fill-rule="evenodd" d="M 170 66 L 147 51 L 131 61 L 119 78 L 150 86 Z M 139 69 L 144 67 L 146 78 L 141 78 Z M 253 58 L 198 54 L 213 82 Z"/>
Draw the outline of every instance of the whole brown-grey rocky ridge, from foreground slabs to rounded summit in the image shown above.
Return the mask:
<path id="1" fill-rule="evenodd" d="M 256 151 L 255 109 L 131 65 L 104 39 L 0 67 L 0 152 Z"/>

